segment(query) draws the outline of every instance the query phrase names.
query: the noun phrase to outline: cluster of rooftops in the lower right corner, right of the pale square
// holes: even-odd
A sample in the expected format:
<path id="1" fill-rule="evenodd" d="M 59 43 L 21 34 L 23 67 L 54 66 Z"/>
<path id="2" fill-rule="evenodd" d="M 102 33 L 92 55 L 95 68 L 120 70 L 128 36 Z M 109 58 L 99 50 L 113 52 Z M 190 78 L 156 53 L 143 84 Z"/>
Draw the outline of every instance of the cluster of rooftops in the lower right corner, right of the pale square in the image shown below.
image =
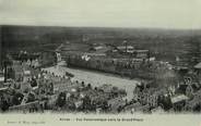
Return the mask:
<path id="1" fill-rule="evenodd" d="M 122 112 L 201 112 L 200 63 L 182 76 L 178 84 L 153 87 L 152 83 L 138 84 L 133 100 Z"/>

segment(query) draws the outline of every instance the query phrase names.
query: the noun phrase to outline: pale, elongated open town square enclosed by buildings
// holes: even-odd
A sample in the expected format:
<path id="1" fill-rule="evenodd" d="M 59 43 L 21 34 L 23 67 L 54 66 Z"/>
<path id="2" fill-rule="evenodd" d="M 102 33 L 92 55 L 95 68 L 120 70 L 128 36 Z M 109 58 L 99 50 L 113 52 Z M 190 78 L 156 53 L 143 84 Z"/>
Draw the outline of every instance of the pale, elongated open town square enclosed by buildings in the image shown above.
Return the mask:
<path id="1" fill-rule="evenodd" d="M 103 84 L 111 84 L 118 88 L 126 89 L 128 97 L 127 99 L 132 99 L 133 90 L 135 88 L 137 80 L 122 78 L 117 75 L 113 74 L 105 74 L 98 72 L 91 72 L 86 70 L 78 70 L 78 68 L 70 68 L 64 66 L 52 66 L 48 68 L 44 68 L 49 72 L 54 72 L 56 75 L 64 75 L 66 72 L 72 73 L 74 77 L 72 79 L 79 81 L 85 81 L 85 84 L 92 84 L 93 87 L 100 86 Z"/>

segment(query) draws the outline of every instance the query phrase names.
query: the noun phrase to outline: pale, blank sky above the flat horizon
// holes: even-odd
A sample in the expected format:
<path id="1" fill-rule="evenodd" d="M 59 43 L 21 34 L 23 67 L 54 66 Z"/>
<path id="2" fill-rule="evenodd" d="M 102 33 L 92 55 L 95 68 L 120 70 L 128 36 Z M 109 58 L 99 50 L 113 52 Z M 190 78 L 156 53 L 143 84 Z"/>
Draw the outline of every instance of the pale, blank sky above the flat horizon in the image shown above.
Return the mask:
<path id="1" fill-rule="evenodd" d="M 201 28 L 201 0 L 0 0 L 1 25 Z"/>

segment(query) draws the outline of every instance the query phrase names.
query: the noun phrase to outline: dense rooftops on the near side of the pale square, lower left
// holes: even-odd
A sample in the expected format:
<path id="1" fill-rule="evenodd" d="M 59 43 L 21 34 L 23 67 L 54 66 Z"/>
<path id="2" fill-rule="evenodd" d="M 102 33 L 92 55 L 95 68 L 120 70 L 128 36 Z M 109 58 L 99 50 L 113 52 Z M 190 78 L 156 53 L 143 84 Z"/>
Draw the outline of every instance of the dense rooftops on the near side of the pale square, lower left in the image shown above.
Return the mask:
<path id="1" fill-rule="evenodd" d="M 44 112 L 117 112 L 126 102 L 127 93 L 111 85 L 93 87 L 93 84 L 72 81 L 69 76 L 33 67 L 28 60 L 12 60 L 8 66 L 7 83 L 0 88 L 1 111 Z M 116 108 L 115 108 L 116 106 Z"/>

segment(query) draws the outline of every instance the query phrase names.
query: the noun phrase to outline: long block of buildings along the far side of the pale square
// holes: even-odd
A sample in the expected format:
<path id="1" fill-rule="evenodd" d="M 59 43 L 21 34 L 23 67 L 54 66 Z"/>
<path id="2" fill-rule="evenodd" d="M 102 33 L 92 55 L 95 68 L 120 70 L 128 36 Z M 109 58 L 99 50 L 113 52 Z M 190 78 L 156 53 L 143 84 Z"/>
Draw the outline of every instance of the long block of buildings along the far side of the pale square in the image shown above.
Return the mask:
<path id="1" fill-rule="evenodd" d="M 153 77 L 153 72 L 145 70 L 155 61 L 155 58 L 150 56 L 150 51 L 134 49 L 125 43 L 122 46 L 93 45 L 88 51 L 66 51 L 61 48 L 60 52 L 68 66 L 119 74 L 131 78 Z"/>

